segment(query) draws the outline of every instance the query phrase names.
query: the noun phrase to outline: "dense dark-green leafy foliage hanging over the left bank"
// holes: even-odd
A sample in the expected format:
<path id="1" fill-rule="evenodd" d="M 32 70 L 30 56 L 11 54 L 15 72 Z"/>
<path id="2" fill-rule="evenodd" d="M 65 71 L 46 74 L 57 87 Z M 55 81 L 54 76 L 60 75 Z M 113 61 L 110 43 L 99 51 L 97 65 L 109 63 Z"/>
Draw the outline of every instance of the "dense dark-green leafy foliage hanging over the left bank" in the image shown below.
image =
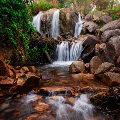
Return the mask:
<path id="1" fill-rule="evenodd" d="M 0 45 L 17 49 L 29 49 L 29 39 L 33 27 L 22 0 L 1 0 L 0 2 Z"/>

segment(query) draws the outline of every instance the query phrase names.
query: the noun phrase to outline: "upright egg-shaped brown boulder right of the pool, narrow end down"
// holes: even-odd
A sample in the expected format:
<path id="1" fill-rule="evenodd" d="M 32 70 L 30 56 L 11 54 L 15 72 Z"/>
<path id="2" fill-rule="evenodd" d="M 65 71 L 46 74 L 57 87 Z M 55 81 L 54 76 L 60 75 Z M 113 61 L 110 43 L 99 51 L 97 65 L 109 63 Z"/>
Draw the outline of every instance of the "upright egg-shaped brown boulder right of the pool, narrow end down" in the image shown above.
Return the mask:
<path id="1" fill-rule="evenodd" d="M 90 61 L 90 71 L 91 73 L 95 73 L 98 67 L 102 64 L 101 59 L 98 56 L 94 56 Z"/>

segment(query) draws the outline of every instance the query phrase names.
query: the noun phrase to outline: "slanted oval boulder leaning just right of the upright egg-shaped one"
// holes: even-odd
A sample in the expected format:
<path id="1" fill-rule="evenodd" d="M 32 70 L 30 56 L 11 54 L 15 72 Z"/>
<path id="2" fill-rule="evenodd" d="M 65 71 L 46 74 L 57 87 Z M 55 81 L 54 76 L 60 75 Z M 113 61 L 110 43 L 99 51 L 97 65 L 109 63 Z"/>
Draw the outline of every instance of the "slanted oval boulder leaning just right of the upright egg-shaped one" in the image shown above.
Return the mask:
<path id="1" fill-rule="evenodd" d="M 105 73 L 109 71 L 112 67 L 114 67 L 114 64 L 109 62 L 104 62 L 98 67 L 98 69 L 95 71 L 95 74 L 99 75 L 99 74 Z"/>

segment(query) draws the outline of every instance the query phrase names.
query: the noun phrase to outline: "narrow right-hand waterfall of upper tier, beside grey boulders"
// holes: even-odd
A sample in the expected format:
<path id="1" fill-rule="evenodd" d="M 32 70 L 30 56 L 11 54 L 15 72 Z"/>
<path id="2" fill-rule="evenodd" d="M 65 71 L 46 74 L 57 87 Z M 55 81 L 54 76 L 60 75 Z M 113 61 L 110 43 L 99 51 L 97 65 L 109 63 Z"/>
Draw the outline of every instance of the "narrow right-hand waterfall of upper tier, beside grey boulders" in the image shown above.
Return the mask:
<path id="1" fill-rule="evenodd" d="M 77 22 L 76 25 L 75 25 L 74 37 L 77 37 L 78 35 L 80 35 L 81 30 L 82 30 L 82 20 L 81 20 L 80 14 L 79 14 L 78 22 Z"/>

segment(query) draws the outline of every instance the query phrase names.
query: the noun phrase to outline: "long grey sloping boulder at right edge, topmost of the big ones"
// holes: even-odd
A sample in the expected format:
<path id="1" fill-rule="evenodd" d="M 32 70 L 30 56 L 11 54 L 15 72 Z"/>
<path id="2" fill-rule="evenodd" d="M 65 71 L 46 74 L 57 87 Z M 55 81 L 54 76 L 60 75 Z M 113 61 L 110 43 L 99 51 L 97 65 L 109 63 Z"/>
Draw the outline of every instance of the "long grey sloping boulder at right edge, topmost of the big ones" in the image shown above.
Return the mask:
<path id="1" fill-rule="evenodd" d="M 100 31 L 103 33 L 106 30 L 115 30 L 115 29 L 120 29 L 120 19 L 114 20 L 112 22 L 109 22 L 105 24 Z"/>

